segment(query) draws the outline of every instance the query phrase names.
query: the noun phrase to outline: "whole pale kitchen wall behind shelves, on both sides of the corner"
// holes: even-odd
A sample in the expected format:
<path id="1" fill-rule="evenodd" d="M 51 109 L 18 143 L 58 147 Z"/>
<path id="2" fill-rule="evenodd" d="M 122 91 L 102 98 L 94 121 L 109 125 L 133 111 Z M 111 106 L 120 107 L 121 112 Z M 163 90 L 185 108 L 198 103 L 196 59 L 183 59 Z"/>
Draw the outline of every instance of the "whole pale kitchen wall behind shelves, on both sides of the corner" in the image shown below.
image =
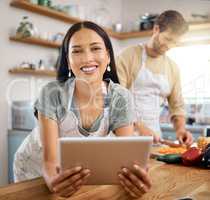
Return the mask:
<path id="1" fill-rule="evenodd" d="M 16 43 L 9 41 L 8 37 L 17 27 L 23 15 L 30 16 L 31 21 L 43 33 L 64 32 L 69 25 L 48 17 L 33 14 L 25 10 L 9 6 L 10 0 L 0 1 L 0 185 L 7 183 L 7 129 L 11 126 L 9 103 L 11 100 L 34 100 L 37 97 L 41 86 L 51 80 L 48 78 L 34 78 L 32 76 L 11 75 L 8 69 L 25 61 L 36 61 L 39 58 L 55 59 L 57 50 L 48 49 L 33 45 Z M 53 2 L 67 4 L 69 0 L 55 0 Z M 189 3 L 190 2 L 190 3 Z M 96 21 L 103 21 L 110 26 L 112 23 L 123 22 L 128 29 L 138 27 L 139 16 L 145 12 L 160 13 L 165 9 L 177 9 L 181 11 L 187 19 L 190 13 L 206 14 L 210 11 L 210 1 L 201 0 L 72 0 L 72 4 L 80 5 L 80 17 L 93 19 L 100 11 L 104 18 L 97 18 Z M 107 11 L 104 15 L 104 11 Z M 94 14 L 96 13 L 96 14 Z M 103 20 L 105 19 L 105 20 Z M 112 23 L 110 23 L 112 22 Z M 115 52 L 131 45 L 145 41 L 144 39 L 131 39 L 125 41 L 112 40 Z M 7 98 L 9 96 L 9 98 Z"/>

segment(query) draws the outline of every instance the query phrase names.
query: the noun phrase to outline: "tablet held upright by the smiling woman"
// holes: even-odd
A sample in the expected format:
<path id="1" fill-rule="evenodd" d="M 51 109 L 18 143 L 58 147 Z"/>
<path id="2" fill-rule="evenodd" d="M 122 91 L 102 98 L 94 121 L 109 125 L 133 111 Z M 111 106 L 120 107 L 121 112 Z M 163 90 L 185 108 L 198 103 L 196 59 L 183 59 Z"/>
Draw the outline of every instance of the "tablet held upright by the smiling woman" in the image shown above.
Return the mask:
<path id="1" fill-rule="evenodd" d="M 121 167 L 132 169 L 133 162 L 146 166 L 152 140 L 151 136 L 59 138 L 59 163 L 62 169 L 90 169 L 88 185 L 118 184 Z"/>

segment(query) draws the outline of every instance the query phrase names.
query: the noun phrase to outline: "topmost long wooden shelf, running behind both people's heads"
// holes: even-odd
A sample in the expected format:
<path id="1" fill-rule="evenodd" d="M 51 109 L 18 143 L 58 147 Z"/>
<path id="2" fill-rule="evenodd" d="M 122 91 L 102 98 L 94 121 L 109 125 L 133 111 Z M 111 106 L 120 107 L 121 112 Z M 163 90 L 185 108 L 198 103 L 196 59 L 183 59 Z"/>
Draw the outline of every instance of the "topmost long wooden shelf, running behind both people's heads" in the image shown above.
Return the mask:
<path id="1" fill-rule="evenodd" d="M 77 23 L 81 22 L 83 20 L 76 18 L 76 17 L 71 17 L 63 12 L 59 12 L 50 8 L 47 8 L 45 6 L 39 6 L 32 4 L 28 2 L 27 0 L 12 0 L 10 3 L 11 6 L 16 7 L 16 8 L 21 8 L 24 10 L 28 10 L 34 13 L 38 13 L 44 16 L 48 16 L 57 20 L 61 20 L 67 23 Z M 190 23 L 189 29 L 190 31 L 193 30 L 199 30 L 199 29 L 207 29 L 210 28 L 210 22 L 192 22 Z M 114 32 L 111 29 L 104 28 L 107 33 L 116 39 L 119 40 L 125 40 L 125 39 L 131 39 L 131 38 L 139 38 L 139 37 L 148 37 L 152 34 L 152 31 L 139 31 L 139 32 Z"/>

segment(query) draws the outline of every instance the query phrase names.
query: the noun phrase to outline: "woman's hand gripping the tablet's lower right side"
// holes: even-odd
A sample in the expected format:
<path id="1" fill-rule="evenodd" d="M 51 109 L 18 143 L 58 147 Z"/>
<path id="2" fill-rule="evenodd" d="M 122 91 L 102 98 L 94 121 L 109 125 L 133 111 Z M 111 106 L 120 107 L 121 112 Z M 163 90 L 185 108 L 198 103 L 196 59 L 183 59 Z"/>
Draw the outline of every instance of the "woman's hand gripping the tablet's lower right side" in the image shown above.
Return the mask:
<path id="1" fill-rule="evenodd" d="M 139 165 L 133 165 L 134 170 L 122 168 L 118 174 L 120 185 L 132 197 L 139 198 L 149 191 L 151 188 L 151 181 L 148 172 Z"/>

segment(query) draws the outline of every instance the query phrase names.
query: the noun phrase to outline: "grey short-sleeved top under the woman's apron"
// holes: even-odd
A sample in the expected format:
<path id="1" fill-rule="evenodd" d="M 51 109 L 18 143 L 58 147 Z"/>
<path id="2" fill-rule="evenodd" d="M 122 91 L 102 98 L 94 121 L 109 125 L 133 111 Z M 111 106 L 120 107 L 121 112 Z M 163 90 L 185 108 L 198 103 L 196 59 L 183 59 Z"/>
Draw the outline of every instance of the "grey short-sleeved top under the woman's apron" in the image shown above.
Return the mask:
<path id="1" fill-rule="evenodd" d="M 73 92 L 70 94 L 71 86 L 74 78 L 67 80 L 65 83 L 53 81 L 48 83 L 41 91 L 39 99 L 35 102 L 35 108 L 44 116 L 60 122 L 68 111 L 68 102 L 71 101 L 70 110 L 75 113 L 79 121 L 79 130 L 81 133 L 97 131 L 100 126 L 103 113 L 95 120 L 91 128 L 86 130 L 81 126 L 79 112 L 73 97 Z M 127 126 L 135 121 L 133 112 L 132 96 L 130 92 L 113 83 L 108 82 L 108 91 L 105 96 L 105 107 L 109 107 L 109 131 L 114 131 L 116 128 Z"/>

